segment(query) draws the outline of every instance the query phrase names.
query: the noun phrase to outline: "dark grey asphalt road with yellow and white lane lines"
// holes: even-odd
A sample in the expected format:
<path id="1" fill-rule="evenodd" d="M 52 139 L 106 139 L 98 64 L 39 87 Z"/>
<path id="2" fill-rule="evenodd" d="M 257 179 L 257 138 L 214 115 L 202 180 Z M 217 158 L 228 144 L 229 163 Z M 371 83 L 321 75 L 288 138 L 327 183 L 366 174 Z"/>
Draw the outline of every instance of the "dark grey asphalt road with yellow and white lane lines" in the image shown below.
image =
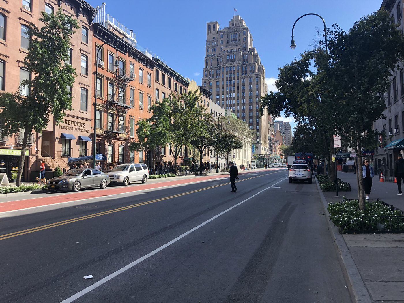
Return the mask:
<path id="1" fill-rule="evenodd" d="M 351 302 L 316 185 L 285 177 L 252 172 L 236 193 L 221 179 L 2 218 L 0 301 Z"/>

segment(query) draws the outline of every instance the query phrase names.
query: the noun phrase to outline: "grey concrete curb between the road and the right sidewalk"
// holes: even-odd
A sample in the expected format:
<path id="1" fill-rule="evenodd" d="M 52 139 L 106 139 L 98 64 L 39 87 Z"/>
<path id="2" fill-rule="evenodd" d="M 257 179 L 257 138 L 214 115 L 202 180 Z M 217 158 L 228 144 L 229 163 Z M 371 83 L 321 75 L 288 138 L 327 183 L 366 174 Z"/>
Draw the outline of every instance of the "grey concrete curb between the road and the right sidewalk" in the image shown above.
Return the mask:
<path id="1" fill-rule="evenodd" d="M 344 276 L 345 282 L 347 283 L 347 287 L 349 290 L 349 294 L 351 295 L 351 299 L 353 302 L 372 302 L 370 299 L 370 295 L 366 286 L 360 276 L 358 267 L 356 267 L 355 262 L 351 256 L 351 252 L 349 252 L 349 248 L 345 243 L 343 236 L 339 233 L 337 226 L 330 220 L 330 214 L 328 213 L 327 207 L 328 202 L 326 197 L 323 194 L 323 191 L 320 188 L 320 185 L 316 179 L 316 185 L 318 193 L 320 194 L 320 199 L 323 204 L 324 213 L 326 215 L 326 221 L 328 224 L 328 230 L 330 231 L 331 237 L 334 242 L 334 246 L 338 252 L 339 264 L 342 269 L 342 274 Z"/>

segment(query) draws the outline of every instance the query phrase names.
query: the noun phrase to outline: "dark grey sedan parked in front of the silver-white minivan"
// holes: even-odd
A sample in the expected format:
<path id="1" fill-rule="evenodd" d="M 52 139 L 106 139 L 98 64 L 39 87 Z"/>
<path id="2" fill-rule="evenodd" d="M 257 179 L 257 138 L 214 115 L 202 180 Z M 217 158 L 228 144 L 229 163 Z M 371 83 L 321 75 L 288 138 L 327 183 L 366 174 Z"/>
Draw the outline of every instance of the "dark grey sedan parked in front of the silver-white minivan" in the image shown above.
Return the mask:
<path id="1" fill-rule="evenodd" d="M 80 191 L 82 188 L 88 187 L 100 187 L 105 188 L 109 184 L 110 180 L 107 174 L 94 168 L 76 168 L 71 169 L 61 175 L 49 179 L 48 190 L 72 190 Z"/>

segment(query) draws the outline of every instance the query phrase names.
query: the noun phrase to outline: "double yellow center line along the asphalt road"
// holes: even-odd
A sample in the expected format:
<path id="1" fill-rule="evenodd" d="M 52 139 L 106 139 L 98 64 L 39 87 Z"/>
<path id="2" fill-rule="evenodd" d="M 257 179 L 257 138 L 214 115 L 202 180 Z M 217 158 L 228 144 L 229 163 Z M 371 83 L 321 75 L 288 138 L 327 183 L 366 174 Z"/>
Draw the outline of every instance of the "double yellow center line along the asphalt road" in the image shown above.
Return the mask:
<path id="1" fill-rule="evenodd" d="M 263 176 L 266 176 L 266 175 L 272 175 L 272 174 L 275 174 L 275 173 L 280 173 L 280 171 L 277 171 L 277 172 L 274 172 L 274 173 L 269 173 L 269 174 L 264 174 L 264 175 L 260 175 L 260 176 L 256 176 L 256 177 L 250 177 L 250 178 L 239 180 L 239 181 L 236 181 L 236 182 L 247 181 L 247 180 L 250 180 L 250 179 L 263 177 Z M 213 180 L 215 180 L 215 179 L 213 179 Z M 21 231 L 15 231 L 15 232 L 13 232 L 11 234 L 1 235 L 0 240 L 5 240 L 5 239 L 8 239 L 8 238 L 14 238 L 14 237 L 17 237 L 17 236 L 30 234 L 30 233 L 40 231 L 40 230 L 43 230 L 43 229 L 53 228 L 53 227 L 57 227 L 57 226 L 60 226 L 60 225 L 74 223 L 74 222 L 78 222 L 78 221 L 82 221 L 82 220 L 87 220 L 87 219 L 91 219 L 91 218 L 95 218 L 95 217 L 99 217 L 99 216 L 103 216 L 103 215 L 109 215 L 109 214 L 112 214 L 112 213 L 116 213 L 118 211 L 127 210 L 127 209 L 130 209 L 130 208 L 135 208 L 135 207 L 138 207 L 138 206 L 143 206 L 143 205 L 146 205 L 146 204 L 160 202 L 160 201 L 163 201 L 163 200 L 177 198 L 177 197 L 181 197 L 181 196 L 185 196 L 185 195 L 189 195 L 189 194 L 194 194 L 194 193 L 197 193 L 198 191 L 212 189 L 212 188 L 227 185 L 227 184 L 230 184 L 230 183 L 223 183 L 223 184 L 214 185 L 214 186 L 210 186 L 210 187 L 204 187 L 204 188 L 196 189 L 196 190 L 193 190 L 193 191 L 187 191 L 187 192 L 185 192 L 183 194 L 177 194 L 177 195 L 174 195 L 174 196 L 169 196 L 169 197 L 164 197 L 164 198 L 160 198 L 160 199 L 150 200 L 150 201 L 141 202 L 141 203 L 138 203 L 138 204 L 132 204 L 132 205 L 129 205 L 129 206 L 115 208 L 115 209 L 112 209 L 112 210 L 106 210 L 106 211 L 103 211 L 101 213 L 95 213 L 95 214 L 92 214 L 92 215 L 73 218 L 73 219 L 69 219 L 69 220 L 65 220 L 65 221 L 59 221 L 59 222 L 55 222 L 55 223 L 51 223 L 51 224 L 47 224 L 47 225 L 33 227 L 33 228 L 30 228 L 30 229 L 24 229 L 24 230 L 21 230 Z"/>

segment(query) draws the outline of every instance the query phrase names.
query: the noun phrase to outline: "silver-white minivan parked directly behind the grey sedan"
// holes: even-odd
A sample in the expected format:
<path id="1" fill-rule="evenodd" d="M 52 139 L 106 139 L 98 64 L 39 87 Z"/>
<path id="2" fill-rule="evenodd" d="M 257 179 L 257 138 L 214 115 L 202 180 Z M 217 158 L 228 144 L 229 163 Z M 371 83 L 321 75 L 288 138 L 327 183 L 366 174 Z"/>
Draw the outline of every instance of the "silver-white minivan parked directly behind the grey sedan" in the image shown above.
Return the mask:
<path id="1" fill-rule="evenodd" d="M 149 178 L 149 168 L 144 163 L 126 163 L 115 166 L 107 175 L 111 183 L 121 183 L 125 186 L 135 181 L 146 183 Z"/>

